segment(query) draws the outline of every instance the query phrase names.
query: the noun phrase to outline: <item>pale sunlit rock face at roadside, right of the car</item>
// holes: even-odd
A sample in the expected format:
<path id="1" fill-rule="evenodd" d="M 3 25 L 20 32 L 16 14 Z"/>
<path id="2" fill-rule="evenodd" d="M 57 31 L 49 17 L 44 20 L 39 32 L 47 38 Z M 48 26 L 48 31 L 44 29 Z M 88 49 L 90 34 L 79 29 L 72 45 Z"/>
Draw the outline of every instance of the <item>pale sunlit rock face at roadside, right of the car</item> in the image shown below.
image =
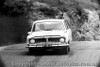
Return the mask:
<path id="1" fill-rule="evenodd" d="M 100 40 L 100 20 L 97 11 L 84 10 L 87 13 L 88 19 L 81 25 L 80 29 L 78 28 L 74 31 L 74 40 Z"/>

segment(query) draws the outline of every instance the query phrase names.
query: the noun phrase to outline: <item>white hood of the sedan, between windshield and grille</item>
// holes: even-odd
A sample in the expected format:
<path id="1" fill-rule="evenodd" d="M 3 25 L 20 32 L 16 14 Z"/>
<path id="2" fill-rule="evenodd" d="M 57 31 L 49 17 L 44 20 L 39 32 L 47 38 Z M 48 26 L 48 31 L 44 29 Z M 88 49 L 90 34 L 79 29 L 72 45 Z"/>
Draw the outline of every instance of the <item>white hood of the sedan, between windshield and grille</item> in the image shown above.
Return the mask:
<path id="1" fill-rule="evenodd" d="M 66 36 L 67 32 L 65 31 L 58 31 L 58 30 L 53 30 L 53 31 L 37 31 L 37 32 L 33 32 L 30 35 L 28 35 L 28 39 L 29 38 L 33 38 L 35 36 Z"/>

